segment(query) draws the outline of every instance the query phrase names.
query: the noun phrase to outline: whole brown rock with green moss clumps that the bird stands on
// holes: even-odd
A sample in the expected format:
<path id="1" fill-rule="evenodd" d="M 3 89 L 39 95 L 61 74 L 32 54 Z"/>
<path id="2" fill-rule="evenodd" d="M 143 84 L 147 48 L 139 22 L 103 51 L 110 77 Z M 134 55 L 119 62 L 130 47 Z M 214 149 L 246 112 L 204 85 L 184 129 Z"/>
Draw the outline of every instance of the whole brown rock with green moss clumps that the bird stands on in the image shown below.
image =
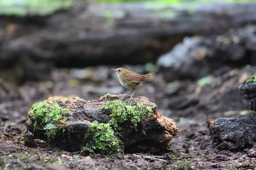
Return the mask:
<path id="1" fill-rule="evenodd" d="M 179 132 L 172 119 L 157 112 L 146 97 L 135 96 L 131 105 L 123 95 L 106 94 L 92 101 L 50 97 L 29 110 L 27 129 L 63 150 L 81 147 L 95 153 L 159 152 Z"/>

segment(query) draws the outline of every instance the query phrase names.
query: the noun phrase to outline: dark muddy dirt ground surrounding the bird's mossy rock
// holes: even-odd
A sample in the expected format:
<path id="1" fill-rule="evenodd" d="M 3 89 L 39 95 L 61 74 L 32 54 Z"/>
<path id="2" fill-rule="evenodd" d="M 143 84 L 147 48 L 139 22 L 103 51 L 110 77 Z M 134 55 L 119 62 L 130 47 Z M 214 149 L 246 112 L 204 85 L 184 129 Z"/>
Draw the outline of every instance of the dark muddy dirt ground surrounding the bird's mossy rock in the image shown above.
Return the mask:
<path id="1" fill-rule="evenodd" d="M 134 71 L 138 67 L 127 66 Z M 111 69 L 100 66 L 90 75 L 76 77 L 82 70 L 56 70 L 55 82 L 26 82 L 21 87 L 6 85 L 0 88 L 0 169 L 3 170 L 236 170 L 254 169 L 256 158 L 244 151 L 231 152 L 212 147 L 208 123 L 218 117 L 252 115 L 249 101 L 239 94 L 238 85 L 255 67 L 244 67 L 225 72 L 218 77 L 209 75 L 200 81 L 165 83 L 161 75 L 140 86 L 138 96 L 146 96 L 157 104 L 157 110 L 177 122 L 180 133 L 174 136 L 164 153 L 125 154 L 120 158 L 99 155 L 81 156 L 80 152 L 67 152 L 49 147 L 39 139 L 32 140 L 26 132 L 29 105 L 49 96 L 79 96 L 86 100 L 99 94 L 127 93 Z M 95 70 L 102 69 L 105 74 Z M 87 71 L 88 73 L 88 71 Z M 94 77 L 97 77 L 94 79 Z M 27 99 L 29 99 L 27 104 Z"/>

